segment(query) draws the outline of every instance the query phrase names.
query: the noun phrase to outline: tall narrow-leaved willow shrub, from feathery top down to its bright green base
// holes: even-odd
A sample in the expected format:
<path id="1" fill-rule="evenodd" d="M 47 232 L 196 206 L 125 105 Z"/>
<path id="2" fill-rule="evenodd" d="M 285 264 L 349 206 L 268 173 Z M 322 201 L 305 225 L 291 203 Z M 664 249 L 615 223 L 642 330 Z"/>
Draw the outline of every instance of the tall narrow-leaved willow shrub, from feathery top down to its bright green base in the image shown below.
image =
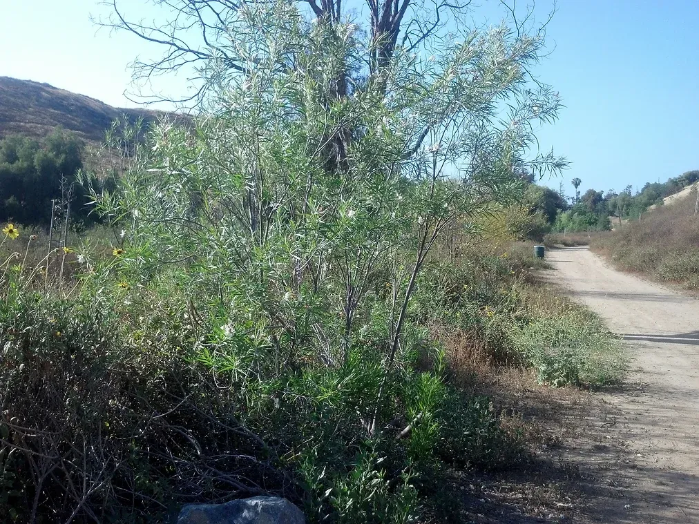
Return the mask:
<path id="1" fill-rule="evenodd" d="M 108 272 L 132 293 L 176 282 L 185 353 L 301 472 L 311 515 L 408 521 L 446 394 L 411 298 L 447 228 L 517 198 L 514 173 L 563 166 L 527 157 L 558 108 L 527 82 L 542 41 L 473 31 L 368 73 L 360 29 L 289 3 L 245 4 L 226 29 L 245 73 L 94 195 L 125 232 Z"/>

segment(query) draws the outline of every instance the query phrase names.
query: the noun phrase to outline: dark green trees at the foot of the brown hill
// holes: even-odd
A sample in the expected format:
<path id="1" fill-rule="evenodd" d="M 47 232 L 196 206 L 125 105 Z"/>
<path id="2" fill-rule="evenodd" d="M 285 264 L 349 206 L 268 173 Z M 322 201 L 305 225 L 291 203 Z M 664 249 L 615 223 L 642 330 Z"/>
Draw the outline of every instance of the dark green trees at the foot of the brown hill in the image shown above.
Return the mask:
<path id="1" fill-rule="evenodd" d="M 0 221 L 48 226 L 51 201 L 70 198 L 73 223 L 92 224 L 97 217 L 76 182 L 84 151 L 82 140 L 62 129 L 42 140 L 19 135 L 0 140 Z"/>

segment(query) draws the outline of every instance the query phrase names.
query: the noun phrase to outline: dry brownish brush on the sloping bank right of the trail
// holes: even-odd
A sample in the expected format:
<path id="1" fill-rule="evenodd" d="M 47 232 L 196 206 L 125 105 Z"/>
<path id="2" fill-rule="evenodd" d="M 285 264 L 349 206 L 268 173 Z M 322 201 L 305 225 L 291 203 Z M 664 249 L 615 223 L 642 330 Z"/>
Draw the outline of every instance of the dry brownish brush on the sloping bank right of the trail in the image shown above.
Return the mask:
<path id="1" fill-rule="evenodd" d="M 590 246 L 618 268 L 699 289 L 699 217 L 696 189 L 672 205 L 648 212 L 617 231 L 596 235 Z"/>

